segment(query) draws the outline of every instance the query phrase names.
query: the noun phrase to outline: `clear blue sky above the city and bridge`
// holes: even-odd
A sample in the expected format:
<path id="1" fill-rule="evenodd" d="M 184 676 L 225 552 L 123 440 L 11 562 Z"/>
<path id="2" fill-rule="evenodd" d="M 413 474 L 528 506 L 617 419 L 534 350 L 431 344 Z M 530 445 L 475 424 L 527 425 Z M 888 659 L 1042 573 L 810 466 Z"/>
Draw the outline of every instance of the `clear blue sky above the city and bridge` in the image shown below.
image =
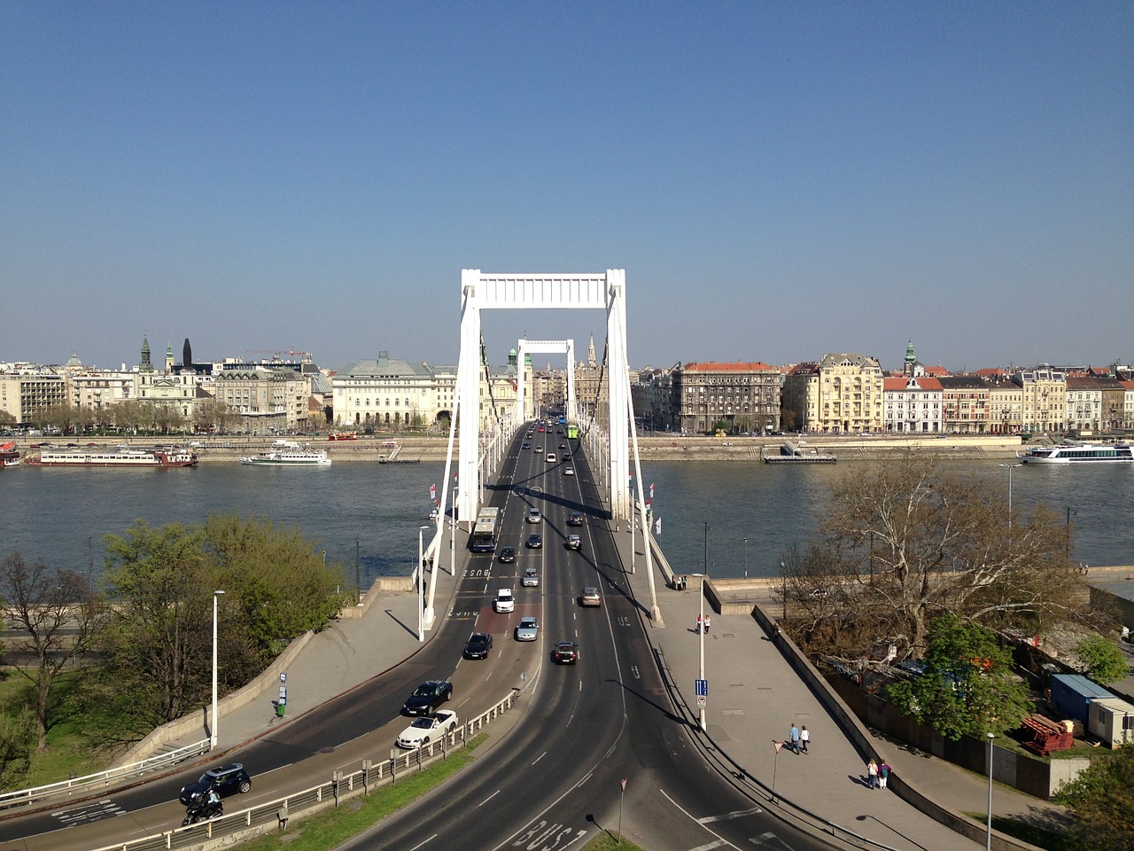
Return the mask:
<path id="1" fill-rule="evenodd" d="M 455 363 L 462 268 L 625 268 L 637 366 L 1129 363 L 1132 45 L 1126 1 L 0 0 L 0 361 Z"/>

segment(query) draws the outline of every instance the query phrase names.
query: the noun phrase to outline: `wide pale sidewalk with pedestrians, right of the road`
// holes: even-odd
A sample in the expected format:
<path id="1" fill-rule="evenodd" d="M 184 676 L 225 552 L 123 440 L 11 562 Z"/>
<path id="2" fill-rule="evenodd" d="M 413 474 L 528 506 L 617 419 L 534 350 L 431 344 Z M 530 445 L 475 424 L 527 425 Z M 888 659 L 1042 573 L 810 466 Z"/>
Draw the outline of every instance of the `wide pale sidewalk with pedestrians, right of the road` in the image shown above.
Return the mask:
<path id="1" fill-rule="evenodd" d="M 631 566 L 631 536 L 616 532 L 623 564 Z M 650 606 L 645 555 L 641 536 L 635 538 L 633 575 L 635 598 Z M 696 618 L 701 610 L 697 580 L 689 578 L 688 590 L 675 591 L 654 564 L 654 585 L 662 622 L 651 623 L 648 638 L 668 668 L 678 691 L 682 710 L 693 724 L 697 719 L 694 682 L 700 675 L 701 637 Z M 768 601 L 770 603 L 770 600 Z M 704 601 L 711 627 L 704 639 L 704 679 L 709 684 L 705 727 L 717 748 L 765 786 L 798 807 L 810 810 L 844 829 L 896 849 L 949 851 L 980 848 L 905 803 L 894 791 L 881 794 L 866 784 L 865 760 L 852 745 L 810 688 L 790 667 L 770 637 L 751 615 L 718 615 Z M 806 725 L 811 733 L 807 753 L 790 748 L 779 753 L 773 742 L 789 738 L 789 728 Z M 875 753 L 937 803 L 958 815 L 988 810 L 987 780 L 943 760 L 912 752 L 879 735 L 872 740 Z M 996 785 L 992 795 L 996 816 L 1058 820 L 1059 807 L 1015 790 Z"/>

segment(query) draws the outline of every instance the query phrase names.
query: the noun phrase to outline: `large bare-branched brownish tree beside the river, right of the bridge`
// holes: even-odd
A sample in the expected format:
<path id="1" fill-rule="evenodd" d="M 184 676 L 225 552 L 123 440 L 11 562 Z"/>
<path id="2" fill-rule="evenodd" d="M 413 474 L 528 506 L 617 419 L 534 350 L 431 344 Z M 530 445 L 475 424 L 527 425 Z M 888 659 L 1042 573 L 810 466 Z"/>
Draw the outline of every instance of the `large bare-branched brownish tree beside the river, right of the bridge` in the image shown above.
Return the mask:
<path id="1" fill-rule="evenodd" d="M 785 558 L 794 630 L 811 651 L 838 637 L 856 658 L 890 644 L 919 656 L 946 612 L 1042 632 L 1082 598 L 1059 517 L 1041 506 L 1008 528 L 999 490 L 933 460 L 856 470 L 832 488 L 826 517 L 813 545 Z"/>

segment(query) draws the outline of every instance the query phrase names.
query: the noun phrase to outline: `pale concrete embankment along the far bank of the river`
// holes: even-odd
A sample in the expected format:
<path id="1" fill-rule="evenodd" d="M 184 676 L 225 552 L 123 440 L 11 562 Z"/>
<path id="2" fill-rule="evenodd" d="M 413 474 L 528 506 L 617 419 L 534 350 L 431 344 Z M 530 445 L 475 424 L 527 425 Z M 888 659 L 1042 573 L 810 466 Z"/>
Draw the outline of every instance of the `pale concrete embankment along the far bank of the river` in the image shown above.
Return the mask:
<path id="1" fill-rule="evenodd" d="M 311 441 L 313 449 L 325 449 L 336 462 L 388 461 L 393 453 L 391 441 L 400 447 L 395 463 L 420 461 L 445 461 L 448 448 L 447 436 L 375 436 L 358 440 Z M 142 441 L 135 441 L 139 445 Z M 765 454 L 779 453 L 784 438 L 778 437 L 640 437 L 638 454 L 642 461 L 727 461 L 734 463 L 761 463 L 761 450 Z M 1019 448 L 1018 437 L 993 435 L 947 435 L 943 437 L 900 438 L 836 437 L 816 435 L 793 437 L 793 443 L 804 453 L 833 455 L 839 462 L 877 461 L 896 458 L 909 452 L 930 453 L 947 460 L 972 461 L 981 458 L 1012 457 Z M 226 441 L 202 440 L 196 453 L 201 463 L 232 462 L 244 455 L 264 452 L 271 440 L 243 438 Z M 454 447 L 456 450 L 456 447 Z"/>

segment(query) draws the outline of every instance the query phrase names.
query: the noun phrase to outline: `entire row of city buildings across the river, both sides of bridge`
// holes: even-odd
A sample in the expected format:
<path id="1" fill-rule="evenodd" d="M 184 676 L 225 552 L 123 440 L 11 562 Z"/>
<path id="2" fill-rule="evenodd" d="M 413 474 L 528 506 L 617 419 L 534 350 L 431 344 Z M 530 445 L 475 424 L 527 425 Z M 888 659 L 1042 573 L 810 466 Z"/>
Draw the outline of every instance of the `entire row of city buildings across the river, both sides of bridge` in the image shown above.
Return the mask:
<path id="1" fill-rule="evenodd" d="M 482 349 L 483 351 L 483 349 Z M 100 370 L 74 356 L 61 366 L 0 364 L 0 419 L 37 424 L 45 411 L 86 412 L 91 424 L 119 424 L 117 414 L 150 403 L 177 415 L 180 428 L 269 433 L 447 427 L 456 404 L 457 366 L 409 363 L 379 352 L 349 366 L 321 370 L 306 353 L 249 362 L 195 362 L 185 342 L 178 363 L 167 346 L 154 364 L 143 339 L 137 366 Z M 299 355 L 295 359 L 294 355 Z M 515 410 L 521 370 L 525 418 L 562 404 L 566 370 L 534 369 L 530 357 L 488 363 L 482 355 L 482 427 Z M 574 364 L 576 404 L 607 420 L 607 381 L 591 339 Z M 687 435 L 765 433 L 1114 433 L 1134 429 L 1128 368 L 987 369 L 951 374 L 906 349 L 903 368 L 855 353 L 773 366 L 760 362 L 677 363 L 631 376 L 643 427 Z"/>

